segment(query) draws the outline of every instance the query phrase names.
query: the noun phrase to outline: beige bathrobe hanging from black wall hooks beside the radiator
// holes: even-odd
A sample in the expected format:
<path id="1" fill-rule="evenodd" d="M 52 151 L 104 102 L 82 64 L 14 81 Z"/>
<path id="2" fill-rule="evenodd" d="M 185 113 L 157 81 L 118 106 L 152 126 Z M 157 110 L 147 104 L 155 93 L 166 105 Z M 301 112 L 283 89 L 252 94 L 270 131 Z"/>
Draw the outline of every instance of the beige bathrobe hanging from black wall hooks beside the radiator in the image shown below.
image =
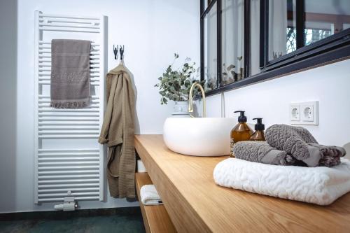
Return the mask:
<path id="1" fill-rule="evenodd" d="M 112 197 L 135 197 L 134 109 L 130 73 L 123 64 L 106 76 L 107 109 L 99 143 L 108 146 L 107 179 Z"/>

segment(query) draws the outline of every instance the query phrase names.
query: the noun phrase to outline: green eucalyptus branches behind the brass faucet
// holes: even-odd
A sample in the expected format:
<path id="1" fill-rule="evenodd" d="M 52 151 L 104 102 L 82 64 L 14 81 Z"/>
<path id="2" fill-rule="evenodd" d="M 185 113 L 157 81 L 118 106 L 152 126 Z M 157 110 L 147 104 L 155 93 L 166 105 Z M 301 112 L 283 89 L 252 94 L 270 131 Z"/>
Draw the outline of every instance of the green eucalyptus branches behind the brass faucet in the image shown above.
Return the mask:
<path id="1" fill-rule="evenodd" d="M 174 54 L 174 62 L 179 59 L 178 54 Z M 159 83 L 155 87 L 159 87 L 160 104 L 167 104 L 169 100 L 172 101 L 188 101 L 188 94 L 190 87 L 193 83 L 198 82 L 202 86 L 205 80 L 200 81 L 196 78 L 199 77 L 200 69 L 195 69 L 195 62 L 191 63 L 190 58 L 185 59 L 185 63 L 174 69 L 174 62 L 167 67 L 165 72 L 158 78 Z M 197 88 L 193 91 L 193 95 L 198 94 Z"/>

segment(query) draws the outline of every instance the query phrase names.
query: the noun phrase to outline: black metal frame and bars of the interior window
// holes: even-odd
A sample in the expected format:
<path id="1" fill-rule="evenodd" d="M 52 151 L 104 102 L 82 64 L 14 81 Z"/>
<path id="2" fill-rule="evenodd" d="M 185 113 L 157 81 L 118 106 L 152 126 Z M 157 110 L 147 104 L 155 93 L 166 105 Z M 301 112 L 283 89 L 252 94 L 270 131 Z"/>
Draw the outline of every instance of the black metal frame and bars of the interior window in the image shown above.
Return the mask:
<path id="1" fill-rule="evenodd" d="M 204 80 L 204 17 L 216 3 L 217 7 L 217 86 L 207 90 L 210 96 L 239 87 L 279 78 L 290 73 L 312 69 L 350 58 L 350 29 L 345 29 L 320 41 L 304 45 L 304 0 L 296 0 L 297 50 L 268 61 L 268 1 L 260 0 L 260 73 L 250 76 L 251 60 L 251 0 L 244 0 L 244 78 L 235 83 L 221 85 L 221 1 L 211 0 L 206 9 L 200 0 L 200 72 Z"/>

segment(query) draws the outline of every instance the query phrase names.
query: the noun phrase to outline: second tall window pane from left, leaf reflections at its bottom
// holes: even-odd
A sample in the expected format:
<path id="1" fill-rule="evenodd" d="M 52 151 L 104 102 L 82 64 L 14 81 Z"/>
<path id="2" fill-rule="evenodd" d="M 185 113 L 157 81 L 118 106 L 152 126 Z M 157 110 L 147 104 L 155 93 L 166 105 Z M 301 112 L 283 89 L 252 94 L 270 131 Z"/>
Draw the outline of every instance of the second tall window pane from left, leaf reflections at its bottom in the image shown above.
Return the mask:
<path id="1" fill-rule="evenodd" d="M 222 85 L 244 77 L 244 0 L 223 0 L 221 12 Z"/>

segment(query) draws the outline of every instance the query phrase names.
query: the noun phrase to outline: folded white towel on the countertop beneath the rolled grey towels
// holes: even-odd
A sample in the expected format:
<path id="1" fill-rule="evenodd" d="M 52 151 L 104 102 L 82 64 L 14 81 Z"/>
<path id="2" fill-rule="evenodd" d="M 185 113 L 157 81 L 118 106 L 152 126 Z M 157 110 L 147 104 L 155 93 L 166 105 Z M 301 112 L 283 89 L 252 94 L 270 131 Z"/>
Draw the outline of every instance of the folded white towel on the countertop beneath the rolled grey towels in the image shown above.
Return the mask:
<path id="1" fill-rule="evenodd" d="M 214 169 L 214 181 L 228 188 L 318 205 L 350 191 L 350 161 L 335 167 L 296 167 L 229 158 Z"/>

